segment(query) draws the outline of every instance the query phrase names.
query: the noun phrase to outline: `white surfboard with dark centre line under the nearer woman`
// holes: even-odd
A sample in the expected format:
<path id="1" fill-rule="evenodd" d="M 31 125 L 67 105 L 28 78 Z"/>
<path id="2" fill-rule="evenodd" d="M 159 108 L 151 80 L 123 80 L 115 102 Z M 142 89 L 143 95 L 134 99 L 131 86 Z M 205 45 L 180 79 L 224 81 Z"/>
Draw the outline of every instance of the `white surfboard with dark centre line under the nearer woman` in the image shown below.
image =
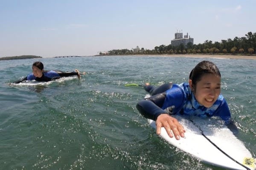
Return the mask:
<path id="1" fill-rule="evenodd" d="M 189 119 L 176 115 L 174 117 L 183 125 L 186 133 L 185 138 L 176 140 L 175 137 L 170 138 L 162 127 L 160 136 L 170 144 L 218 167 L 234 170 L 256 169 L 256 159 L 252 158 L 243 142 L 233 135 L 222 120 L 195 116 Z M 151 127 L 156 128 L 155 121 L 148 119 L 148 122 Z"/>

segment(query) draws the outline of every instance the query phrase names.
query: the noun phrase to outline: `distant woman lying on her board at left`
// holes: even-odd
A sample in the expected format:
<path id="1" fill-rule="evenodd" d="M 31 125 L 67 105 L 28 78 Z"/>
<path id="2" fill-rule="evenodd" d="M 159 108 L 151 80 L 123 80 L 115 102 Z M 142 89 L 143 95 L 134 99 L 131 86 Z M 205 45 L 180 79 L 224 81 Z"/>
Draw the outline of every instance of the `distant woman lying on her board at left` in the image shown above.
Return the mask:
<path id="1" fill-rule="evenodd" d="M 85 72 L 83 73 L 85 74 Z M 18 80 L 14 83 L 20 83 L 24 80 L 36 80 L 38 82 L 49 82 L 54 79 L 59 79 L 61 77 L 69 77 L 77 75 L 77 77 L 80 79 L 80 73 L 76 69 L 73 72 L 61 72 L 61 71 L 44 71 L 44 65 L 42 62 L 37 61 L 34 62 L 32 65 L 32 73 L 27 75 L 24 79 Z"/>

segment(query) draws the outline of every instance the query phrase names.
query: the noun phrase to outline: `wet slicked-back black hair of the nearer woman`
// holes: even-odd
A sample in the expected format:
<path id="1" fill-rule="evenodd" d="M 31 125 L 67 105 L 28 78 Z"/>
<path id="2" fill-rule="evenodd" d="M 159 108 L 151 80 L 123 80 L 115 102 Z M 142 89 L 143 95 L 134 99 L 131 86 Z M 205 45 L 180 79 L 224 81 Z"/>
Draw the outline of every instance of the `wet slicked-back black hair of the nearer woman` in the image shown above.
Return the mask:
<path id="1" fill-rule="evenodd" d="M 214 74 L 221 77 L 218 67 L 210 61 L 199 62 L 190 72 L 189 79 L 192 80 L 192 87 L 195 90 L 195 85 L 199 82 L 204 74 Z"/>

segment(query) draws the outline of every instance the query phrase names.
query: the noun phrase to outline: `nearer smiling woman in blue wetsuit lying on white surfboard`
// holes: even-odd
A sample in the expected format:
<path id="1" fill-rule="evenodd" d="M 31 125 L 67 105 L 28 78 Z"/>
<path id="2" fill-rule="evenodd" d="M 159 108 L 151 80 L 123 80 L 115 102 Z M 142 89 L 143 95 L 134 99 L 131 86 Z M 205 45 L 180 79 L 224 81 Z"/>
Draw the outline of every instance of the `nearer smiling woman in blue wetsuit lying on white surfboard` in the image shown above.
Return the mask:
<path id="1" fill-rule="evenodd" d="M 170 137 L 174 135 L 177 140 L 184 137 L 186 131 L 170 113 L 220 116 L 227 124 L 232 124 L 227 102 L 221 95 L 221 74 L 212 62 L 199 62 L 189 75 L 189 83 L 169 83 L 158 88 L 146 83 L 145 90 L 151 97 L 138 102 L 136 107 L 145 118 L 156 121 L 158 135 L 164 127 Z"/>

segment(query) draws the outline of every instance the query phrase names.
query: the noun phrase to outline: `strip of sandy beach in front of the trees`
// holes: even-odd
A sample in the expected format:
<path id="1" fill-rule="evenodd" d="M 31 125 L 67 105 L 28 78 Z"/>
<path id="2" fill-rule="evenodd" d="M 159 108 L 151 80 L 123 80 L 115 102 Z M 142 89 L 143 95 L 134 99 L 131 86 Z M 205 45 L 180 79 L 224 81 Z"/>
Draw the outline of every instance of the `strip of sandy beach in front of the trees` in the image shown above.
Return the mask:
<path id="1" fill-rule="evenodd" d="M 223 58 L 223 59 L 256 59 L 256 56 L 241 56 L 241 55 L 207 55 L 207 54 L 162 54 L 156 56 L 163 57 L 196 57 L 196 58 Z"/>

